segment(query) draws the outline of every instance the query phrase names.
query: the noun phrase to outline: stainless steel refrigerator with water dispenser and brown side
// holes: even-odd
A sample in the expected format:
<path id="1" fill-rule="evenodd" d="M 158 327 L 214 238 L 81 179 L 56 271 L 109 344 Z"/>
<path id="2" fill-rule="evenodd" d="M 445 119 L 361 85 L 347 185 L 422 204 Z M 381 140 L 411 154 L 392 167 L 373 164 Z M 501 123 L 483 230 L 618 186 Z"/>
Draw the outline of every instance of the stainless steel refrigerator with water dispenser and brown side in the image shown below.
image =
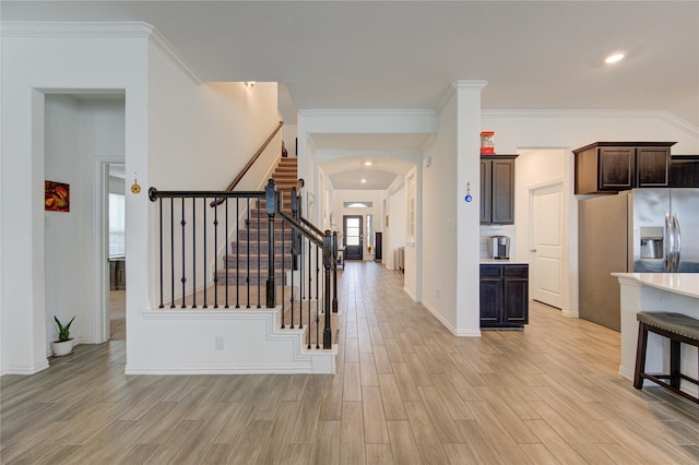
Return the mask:
<path id="1" fill-rule="evenodd" d="M 633 189 L 578 203 L 579 314 L 619 331 L 614 272 L 699 273 L 699 189 Z"/>

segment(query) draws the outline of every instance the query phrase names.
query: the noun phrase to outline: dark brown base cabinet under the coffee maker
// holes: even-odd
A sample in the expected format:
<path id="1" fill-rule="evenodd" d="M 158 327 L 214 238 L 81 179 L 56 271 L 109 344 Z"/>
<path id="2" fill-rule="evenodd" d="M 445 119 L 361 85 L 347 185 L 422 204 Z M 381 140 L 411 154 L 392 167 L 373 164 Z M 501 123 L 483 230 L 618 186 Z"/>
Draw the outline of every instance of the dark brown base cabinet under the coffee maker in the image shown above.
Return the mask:
<path id="1" fill-rule="evenodd" d="M 529 265 L 481 265 L 481 327 L 529 323 Z"/>

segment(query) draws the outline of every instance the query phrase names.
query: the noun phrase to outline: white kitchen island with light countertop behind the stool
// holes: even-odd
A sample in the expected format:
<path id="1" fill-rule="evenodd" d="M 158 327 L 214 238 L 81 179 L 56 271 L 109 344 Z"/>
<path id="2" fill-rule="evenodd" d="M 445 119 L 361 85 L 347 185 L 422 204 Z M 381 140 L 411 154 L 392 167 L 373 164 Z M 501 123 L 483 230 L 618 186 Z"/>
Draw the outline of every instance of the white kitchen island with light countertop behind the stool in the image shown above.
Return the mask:
<path id="1" fill-rule="evenodd" d="M 672 311 L 699 319 L 699 273 L 612 273 L 621 286 L 621 365 L 619 374 L 633 379 L 639 311 Z M 648 336 L 647 371 L 667 371 L 670 343 L 657 334 Z M 683 373 L 697 378 L 697 348 L 683 344 Z M 648 382 L 648 385 L 653 383 Z M 682 384 L 682 390 L 697 395 L 697 386 Z"/>

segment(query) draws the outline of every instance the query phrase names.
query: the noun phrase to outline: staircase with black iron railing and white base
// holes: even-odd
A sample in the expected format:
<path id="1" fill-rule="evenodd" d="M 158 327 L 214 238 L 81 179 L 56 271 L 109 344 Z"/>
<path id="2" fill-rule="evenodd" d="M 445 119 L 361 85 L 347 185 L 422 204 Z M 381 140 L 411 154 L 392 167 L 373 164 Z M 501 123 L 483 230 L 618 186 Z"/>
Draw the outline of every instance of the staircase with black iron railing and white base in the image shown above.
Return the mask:
<path id="1" fill-rule="evenodd" d="M 161 225 L 159 305 L 142 312 L 146 322 L 144 332 L 170 349 L 153 359 L 130 362 L 128 373 L 335 372 L 339 315 L 332 312 L 336 306 L 331 305 L 331 299 L 336 289 L 329 287 L 332 271 L 323 270 L 327 263 L 323 257 L 330 246 L 328 240 L 319 241 L 317 231 L 305 223 L 289 218 L 293 216 L 292 190 L 298 183 L 297 159 L 281 157 L 272 178 L 274 183 L 266 186 L 268 189 L 252 193 L 149 189 L 149 198 L 156 202 L 155 217 Z M 270 237 L 265 199 L 280 193 L 282 205 L 272 219 L 274 228 Z M 162 202 L 163 199 L 167 202 Z M 208 207 L 222 199 L 225 206 L 218 207 L 217 217 L 194 214 L 196 204 Z M 291 224 L 296 229 L 293 230 Z M 170 239 L 171 230 L 177 233 L 175 239 Z M 303 255 L 298 258 L 299 267 L 292 272 L 295 234 L 305 242 Z M 188 240 L 179 240 L 180 236 Z M 192 263 L 202 257 L 202 253 L 194 257 L 190 241 L 194 237 L 199 248 L 194 250 L 203 249 L 203 255 L 206 255 L 206 243 L 209 250 L 218 248 L 215 238 L 226 237 L 228 250 L 214 273 L 213 286 L 170 298 L 178 294 L 180 286 L 181 294 L 186 285 L 191 283 L 194 287 Z M 266 289 L 270 240 L 275 295 Z M 304 263 L 300 263 L 301 257 Z M 221 258 L 217 261 L 221 262 Z M 334 279 L 336 283 L 336 276 Z M 276 299 L 275 305 L 272 297 Z"/>

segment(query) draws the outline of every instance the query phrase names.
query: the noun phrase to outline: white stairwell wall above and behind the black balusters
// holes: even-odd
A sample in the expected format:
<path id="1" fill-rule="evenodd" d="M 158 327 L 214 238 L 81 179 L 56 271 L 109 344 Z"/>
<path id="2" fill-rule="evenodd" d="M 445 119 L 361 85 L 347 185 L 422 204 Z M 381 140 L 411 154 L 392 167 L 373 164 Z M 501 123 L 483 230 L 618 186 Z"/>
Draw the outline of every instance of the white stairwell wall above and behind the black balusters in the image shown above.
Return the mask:
<path id="1" fill-rule="evenodd" d="M 182 73 L 179 63 L 173 60 L 157 43 L 150 44 L 149 51 L 149 156 L 150 186 L 158 190 L 225 190 L 240 172 L 248 160 L 260 148 L 279 124 L 276 108 L 276 84 L 258 83 L 248 88 L 242 83 L 203 83 Z M 269 169 L 281 157 L 281 132 L 270 143 L 261 157 L 235 188 L 238 191 L 261 190 L 266 184 Z M 197 234 L 203 237 L 203 214 L 208 213 L 209 243 L 214 243 L 213 214 L 208 202 L 200 202 L 197 222 L 188 220 L 187 237 Z M 175 205 L 177 222 L 181 213 Z M 228 202 L 228 231 L 235 237 L 238 220 L 235 215 L 235 201 Z M 244 208 L 245 210 L 245 208 Z M 189 215 L 191 207 L 187 211 Z M 218 250 L 206 249 L 204 260 L 203 241 L 196 251 L 188 249 L 186 263 L 188 279 L 185 294 L 192 288 L 203 289 L 213 284 L 216 267 L 223 263 L 225 248 L 229 240 L 221 240 L 225 231 L 225 205 L 216 207 L 220 215 Z M 157 237 L 156 206 L 152 204 L 152 240 Z M 165 218 L 169 218 L 169 203 L 165 203 Z M 194 230 L 194 224 L 197 224 Z M 192 227 L 190 230 L 189 227 Z M 169 238 L 165 238 L 165 250 L 169 248 Z M 175 243 L 181 241 L 181 229 L 176 228 Z M 155 248 L 155 245 L 151 245 Z M 181 275 L 181 253 L 175 254 L 173 266 L 178 277 Z M 159 255 L 152 258 L 156 265 L 151 273 L 149 305 L 159 303 L 158 276 L 155 274 Z M 127 276 L 129 273 L 127 263 Z M 164 270 L 169 275 L 169 266 Z M 196 273 L 196 274 L 194 274 Z M 196 278 L 196 279 L 194 279 Z M 166 286 L 163 300 L 169 301 L 170 290 Z M 181 298 L 182 287 L 175 287 L 175 297 Z M 128 296 L 129 298 L 130 296 Z M 127 323 L 128 324 L 128 323 Z"/>

